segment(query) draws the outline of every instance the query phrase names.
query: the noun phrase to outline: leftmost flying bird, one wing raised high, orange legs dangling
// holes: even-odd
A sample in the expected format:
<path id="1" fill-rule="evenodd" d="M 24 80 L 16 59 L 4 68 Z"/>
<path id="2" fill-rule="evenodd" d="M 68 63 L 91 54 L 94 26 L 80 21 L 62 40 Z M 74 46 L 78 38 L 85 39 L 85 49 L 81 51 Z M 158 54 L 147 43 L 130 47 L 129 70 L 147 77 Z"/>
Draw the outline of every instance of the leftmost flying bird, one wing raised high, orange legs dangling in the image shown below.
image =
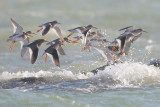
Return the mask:
<path id="1" fill-rule="evenodd" d="M 11 18 L 11 22 L 13 25 L 13 35 L 9 36 L 9 38 L 7 39 L 7 42 L 12 41 L 12 44 L 9 50 L 11 52 L 13 49 L 14 43 L 19 41 L 21 44 L 21 57 L 23 57 L 27 50 L 27 48 L 23 48 L 23 45 L 28 43 L 29 37 L 32 37 L 31 34 L 35 34 L 35 33 L 32 33 L 31 31 L 23 32 L 23 28 L 12 18 Z"/>

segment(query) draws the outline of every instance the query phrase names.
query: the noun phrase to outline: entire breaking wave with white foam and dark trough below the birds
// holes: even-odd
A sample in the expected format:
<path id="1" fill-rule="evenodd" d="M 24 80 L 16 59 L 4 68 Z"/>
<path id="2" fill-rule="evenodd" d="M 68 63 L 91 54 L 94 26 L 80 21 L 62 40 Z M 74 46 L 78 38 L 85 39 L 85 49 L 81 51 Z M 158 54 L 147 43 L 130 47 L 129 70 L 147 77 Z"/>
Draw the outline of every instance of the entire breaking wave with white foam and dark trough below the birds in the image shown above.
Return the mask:
<path id="1" fill-rule="evenodd" d="M 118 87 L 142 87 L 158 85 L 160 70 L 142 63 L 120 63 L 105 67 L 97 74 L 91 72 L 74 74 L 71 71 L 3 72 L 1 88 L 62 89 L 95 92 Z"/>

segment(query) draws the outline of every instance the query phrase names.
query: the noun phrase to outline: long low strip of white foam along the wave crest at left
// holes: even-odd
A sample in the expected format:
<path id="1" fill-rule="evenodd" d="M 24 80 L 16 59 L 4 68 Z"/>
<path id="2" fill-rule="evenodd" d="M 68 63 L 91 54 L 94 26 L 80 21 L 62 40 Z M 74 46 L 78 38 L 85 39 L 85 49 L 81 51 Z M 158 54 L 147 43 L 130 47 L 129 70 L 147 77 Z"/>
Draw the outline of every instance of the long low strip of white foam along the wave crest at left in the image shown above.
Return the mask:
<path id="1" fill-rule="evenodd" d="M 3 72 L 0 75 L 0 80 L 10 80 L 10 79 L 16 79 L 16 78 L 29 78 L 29 77 L 36 77 L 40 78 L 43 77 L 44 79 L 52 79 L 55 82 L 57 81 L 62 81 L 62 80 L 77 80 L 77 79 L 86 79 L 88 78 L 84 74 L 78 73 L 78 74 L 73 74 L 71 71 L 56 71 L 56 72 L 51 72 L 51 71 L 38 71 L 38 72 L 29 72 L 29 71 L 20 71 L 16 73 L 11 73 L 11 72 Z M 51 80 L 51 81 L 52 81 Z"/>

